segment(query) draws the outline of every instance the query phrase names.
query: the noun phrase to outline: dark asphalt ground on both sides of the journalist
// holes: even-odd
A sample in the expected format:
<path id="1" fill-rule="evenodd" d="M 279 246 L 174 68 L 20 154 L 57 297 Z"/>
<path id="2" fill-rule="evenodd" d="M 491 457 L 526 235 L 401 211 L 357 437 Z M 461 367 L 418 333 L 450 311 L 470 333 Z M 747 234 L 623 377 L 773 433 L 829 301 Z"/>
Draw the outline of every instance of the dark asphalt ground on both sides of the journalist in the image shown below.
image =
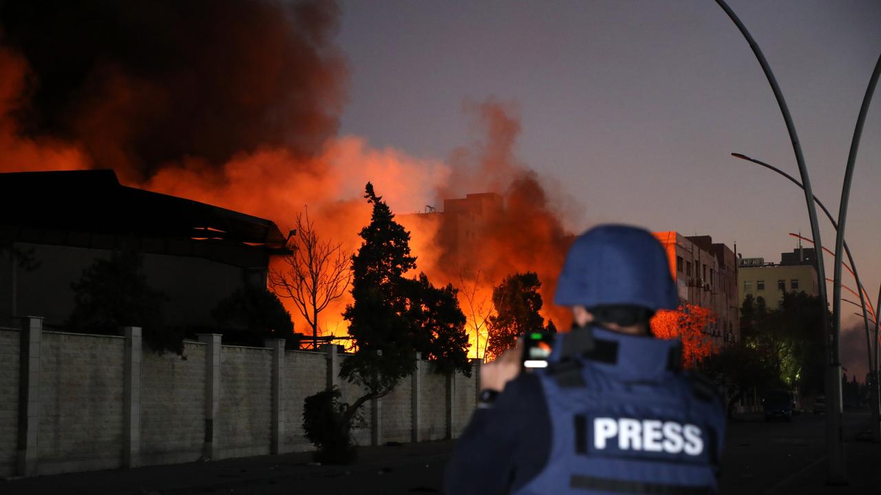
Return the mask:
<path id="1" fill-rule="evenodd" d="M 723 495 L 881 492 L 881 444 L 866 440 L 868 413 L 845 415 L 848 484 L 825 484 L 824 417 L 791 423 L 741 417 L 729 423 L 722 457 Z M 3 495 L 413 494 L 441 491 L 455 442 L 361 447 L 348 466 L 320 466 L 308 453 L 266 455 L 0 481 Z M 479 480 L 475 480 L 479 484 Z"/>

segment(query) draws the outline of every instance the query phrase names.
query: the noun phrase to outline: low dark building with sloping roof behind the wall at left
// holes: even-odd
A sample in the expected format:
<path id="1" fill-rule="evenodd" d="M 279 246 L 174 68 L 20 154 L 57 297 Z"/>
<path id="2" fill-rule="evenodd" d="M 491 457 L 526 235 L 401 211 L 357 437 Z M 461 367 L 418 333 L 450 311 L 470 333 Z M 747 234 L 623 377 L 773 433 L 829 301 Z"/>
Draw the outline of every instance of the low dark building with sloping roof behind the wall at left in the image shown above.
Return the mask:
<path id="1" fill-rule="evenodd" d="M 165 292 L 167 324 L 211 325 L 211 309 L 243 284 L 266 284 L 285 237 L 270 220 L 122 186 L 110 170 L 0 174 L 0 326 L 43 316 L 61 329 L 70 284 L 96 259 L 130 248 Z M 11 252 L 29 253 L 21 267 Z"/>

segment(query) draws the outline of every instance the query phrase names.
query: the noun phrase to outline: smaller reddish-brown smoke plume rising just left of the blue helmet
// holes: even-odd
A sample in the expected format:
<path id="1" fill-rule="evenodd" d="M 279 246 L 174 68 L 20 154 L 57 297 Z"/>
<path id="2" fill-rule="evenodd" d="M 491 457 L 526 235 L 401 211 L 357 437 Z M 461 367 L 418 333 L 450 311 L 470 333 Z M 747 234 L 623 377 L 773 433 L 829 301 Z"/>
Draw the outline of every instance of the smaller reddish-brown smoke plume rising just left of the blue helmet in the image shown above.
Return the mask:
<path id="1" fill-rule="evenodd" d="M 521 123 L 511 104 L 489 99 L 465 105 L 474 118 L 477 144 L 459 148 L 450 156 L 449 180 L 438 188 L 439 198 L 456 198 L 468 193 L 495 193 L 501 197 L 498 209 L 483 211 L 484 218 L 472 225 L 470 242 L 461 242 L 461 218 L 449 212 L 441 217 L 435 237 L 440 249 L 436 264 L 443 275 L 455 280 L 476 277 L 479 272 L 490 284 L 515 272 L 535 271 L 542 281 L 543 314 L 566 328 L 570 315 L 552 306 L 557 276 L 571 237 L 566 235 L 564 213 L 548 194 L 548 184 L 517 158 L 515 146 Z M 559 191 L 554 196 L 563 197 Z M 456 230 L 457 235 L 450 235 Z M 455 240 L 459 240 L 455 242 Z M 454 273 L 459 270 L 459 273 Z"/>

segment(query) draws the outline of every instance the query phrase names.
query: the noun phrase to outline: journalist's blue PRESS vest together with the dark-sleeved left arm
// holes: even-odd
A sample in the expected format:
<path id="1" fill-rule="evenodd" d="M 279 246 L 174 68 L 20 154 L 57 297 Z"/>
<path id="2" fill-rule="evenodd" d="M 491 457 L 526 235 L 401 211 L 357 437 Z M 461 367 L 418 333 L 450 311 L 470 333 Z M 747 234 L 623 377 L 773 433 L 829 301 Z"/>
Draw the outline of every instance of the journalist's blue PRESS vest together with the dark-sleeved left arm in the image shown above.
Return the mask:
<path id="1" fill-rule="evenodd" d="M 548 368 L 475 411 L 448 463 L 447 493 L 717 491 L 722 400 L 679 369 L 679 341 L 591 331 L 592 351 L 567 355 L 572 334 L 558 336 Z"/>

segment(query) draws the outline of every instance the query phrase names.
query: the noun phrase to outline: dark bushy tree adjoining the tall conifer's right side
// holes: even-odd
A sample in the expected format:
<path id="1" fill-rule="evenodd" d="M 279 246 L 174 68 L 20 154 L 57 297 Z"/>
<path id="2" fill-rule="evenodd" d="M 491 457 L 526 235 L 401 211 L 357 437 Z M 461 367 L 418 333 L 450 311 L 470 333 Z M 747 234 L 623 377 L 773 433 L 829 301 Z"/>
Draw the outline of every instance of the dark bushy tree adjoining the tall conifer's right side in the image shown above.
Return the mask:
<path id="1" fill-rule="evenodd" d="M 435 361 L 441 373 L 460 371 L 471 376 L 465 314 L 456 299 L 458 291 L 452 284 L 436 288 L 420 273 L 418 278 L 407 280 L 406 292 L 404 316 L 411 321 L 413 349 Z"/>

